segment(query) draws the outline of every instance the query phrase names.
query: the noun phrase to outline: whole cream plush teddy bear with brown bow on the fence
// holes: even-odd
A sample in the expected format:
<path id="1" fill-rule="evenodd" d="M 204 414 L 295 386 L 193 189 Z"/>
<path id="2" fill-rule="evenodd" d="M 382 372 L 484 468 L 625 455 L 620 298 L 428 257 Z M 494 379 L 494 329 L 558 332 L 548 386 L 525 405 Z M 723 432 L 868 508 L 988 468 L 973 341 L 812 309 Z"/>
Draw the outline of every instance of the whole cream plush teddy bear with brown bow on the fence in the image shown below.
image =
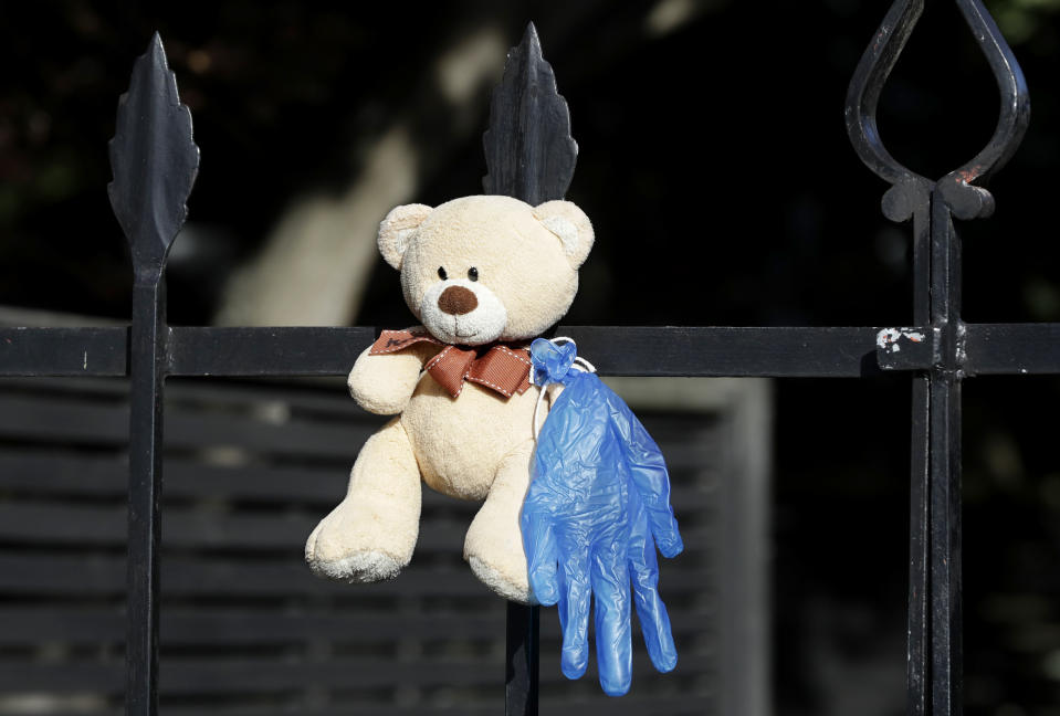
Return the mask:
<path id="1" fill-rule="evenodd" d="M 360 407 L 393 418 L 309 535 L 313 571 L 354 582 L 397 576 L 416 546 L 422 480 L 484 501 L 464 559 L 500 596 L 536 603 L 519 531 L 541 394 L 527 346 L 570 307 L 592 241 L 588 217 L 568 201 L 473 196 L 386 217 L 379 251 L 421 325 L 382 331 L 349 372 Z"/>

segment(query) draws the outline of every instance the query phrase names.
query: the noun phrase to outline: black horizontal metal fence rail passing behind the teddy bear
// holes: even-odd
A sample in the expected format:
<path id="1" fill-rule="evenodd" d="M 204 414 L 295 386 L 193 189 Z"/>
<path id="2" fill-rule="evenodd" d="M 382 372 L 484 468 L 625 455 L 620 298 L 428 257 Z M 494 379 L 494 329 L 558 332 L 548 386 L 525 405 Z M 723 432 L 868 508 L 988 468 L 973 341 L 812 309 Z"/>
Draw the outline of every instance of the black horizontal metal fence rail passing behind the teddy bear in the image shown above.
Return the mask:
<path id="1" fill-rule="evenodd" d="M 967 376 L 1060 372 L 1060 324 L 964 330 Z M 168 376 L 264 378 L 345 376 L 379 330 L 170 326 L 167 334 Z M 926 370 L 938 356 L 931 328 L 915 326 L 562 326 L 557 334 L 574 338 L 604 376 L 859 378 Z M 0 376 L 128 376 L 128 350 L 125 327 L 0 328 Z"/>

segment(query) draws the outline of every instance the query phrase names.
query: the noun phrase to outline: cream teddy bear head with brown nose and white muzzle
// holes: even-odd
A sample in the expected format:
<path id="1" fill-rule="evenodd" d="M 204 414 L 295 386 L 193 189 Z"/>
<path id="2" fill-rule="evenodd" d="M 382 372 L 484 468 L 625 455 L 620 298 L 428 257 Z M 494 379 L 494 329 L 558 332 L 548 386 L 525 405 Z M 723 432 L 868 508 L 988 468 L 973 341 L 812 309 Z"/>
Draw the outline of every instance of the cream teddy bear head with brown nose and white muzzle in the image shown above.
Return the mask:
<path id="1" fill-rule="evenodd" d="M 407 204 L 379 225 L 379 251 L 401 272 L 405 302 L 443 343 L 522 340 L 558 322 L 592 248 L 588 217 L 569 201 L 510 197 Z"/>

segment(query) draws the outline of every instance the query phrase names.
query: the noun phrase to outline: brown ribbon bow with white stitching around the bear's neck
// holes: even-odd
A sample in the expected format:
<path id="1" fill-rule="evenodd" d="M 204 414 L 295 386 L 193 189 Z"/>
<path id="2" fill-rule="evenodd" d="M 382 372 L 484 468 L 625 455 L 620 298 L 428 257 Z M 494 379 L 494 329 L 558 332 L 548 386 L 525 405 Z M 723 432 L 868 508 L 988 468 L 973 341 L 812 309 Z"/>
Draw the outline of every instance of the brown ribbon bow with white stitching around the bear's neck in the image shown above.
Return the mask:
<path id="1" fill-rule="evenodd" d="M 461 348 L 438 340 L 424 328 L 410 328 L 384 330 L 368 352 L 371 356 L 398 352 L 424 341 L 444 346 L 424 368 L 453 398 L 463 390 L 465 380 L 491 388 L 506 398 L 515 393 L 522 396 L 529 388 L 531 357 L 525 347 L 493 344 L 489 348 Z"/>

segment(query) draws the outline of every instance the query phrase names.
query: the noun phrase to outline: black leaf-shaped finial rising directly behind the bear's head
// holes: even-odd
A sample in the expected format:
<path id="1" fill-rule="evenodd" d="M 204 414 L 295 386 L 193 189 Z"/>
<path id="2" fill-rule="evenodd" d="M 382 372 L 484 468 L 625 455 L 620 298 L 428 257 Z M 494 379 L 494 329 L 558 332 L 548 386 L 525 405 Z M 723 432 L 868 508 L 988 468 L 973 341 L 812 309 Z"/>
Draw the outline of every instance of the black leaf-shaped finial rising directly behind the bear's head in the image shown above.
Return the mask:
<path id="1" fill-rule="evenodd" d="M 490 128 L 482 136 L 483 189 L 538 204 L 563 199 L 574 178 L 578 145 L 570 136 L 567 102 L 542 56 L 534 23 L 508 51 L 504 76 L 493 92 Z"/>

